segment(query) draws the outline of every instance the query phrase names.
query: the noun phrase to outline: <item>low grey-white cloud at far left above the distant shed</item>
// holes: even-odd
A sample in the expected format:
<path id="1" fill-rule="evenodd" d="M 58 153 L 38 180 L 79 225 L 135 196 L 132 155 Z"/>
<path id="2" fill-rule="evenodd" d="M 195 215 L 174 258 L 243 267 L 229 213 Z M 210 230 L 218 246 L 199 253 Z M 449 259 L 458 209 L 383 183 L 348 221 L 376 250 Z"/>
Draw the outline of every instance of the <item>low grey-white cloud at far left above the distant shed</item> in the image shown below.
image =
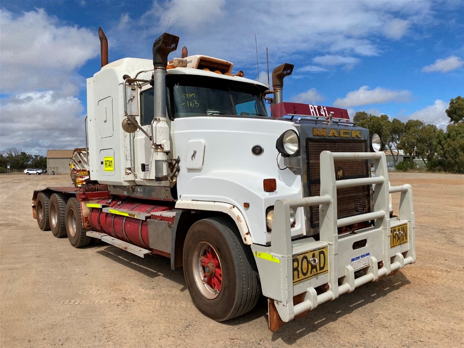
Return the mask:
<path id="1" fill-rule="evenodd" d="M 48 149 L 84 146 L 83 107 L 56 92 L 22 93 L 1 104 L 0 144 L 45 155 Z"/>

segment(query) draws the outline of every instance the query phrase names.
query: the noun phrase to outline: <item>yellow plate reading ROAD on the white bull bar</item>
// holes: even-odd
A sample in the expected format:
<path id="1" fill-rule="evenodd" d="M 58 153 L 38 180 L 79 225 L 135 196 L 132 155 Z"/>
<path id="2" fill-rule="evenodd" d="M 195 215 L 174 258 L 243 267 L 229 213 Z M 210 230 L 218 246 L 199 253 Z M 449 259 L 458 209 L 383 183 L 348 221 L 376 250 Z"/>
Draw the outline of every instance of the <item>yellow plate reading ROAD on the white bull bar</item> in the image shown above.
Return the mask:
<path id="1" fill-rule="evenodd" d="M 329 271 L 327 247 L 293 255 L 293 284 Z"/>

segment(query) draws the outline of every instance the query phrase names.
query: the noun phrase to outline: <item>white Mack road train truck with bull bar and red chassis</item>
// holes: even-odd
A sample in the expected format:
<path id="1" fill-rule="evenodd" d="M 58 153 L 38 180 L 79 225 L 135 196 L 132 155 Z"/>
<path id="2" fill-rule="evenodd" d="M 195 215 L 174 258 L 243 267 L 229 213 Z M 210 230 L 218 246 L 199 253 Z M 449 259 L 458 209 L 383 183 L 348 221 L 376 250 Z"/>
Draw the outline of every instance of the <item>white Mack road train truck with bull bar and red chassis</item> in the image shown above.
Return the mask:
<path id="1" fill-rule="evenodd" d="M 274 69 L 269 90 L 222 59 L 183 50 L 168 62 L 179 38 L 167 33 L 153 60 L 108 64 L 99 35 L 102 68 L 87 79 L 90 181 L 35 191 L 41 230 L 77 248 L 93 237 L 170 258 L 195 307 L 217 321 L 262 293 L 272 331 L 415 262 L 411 186 L 389 186 L 379 137 L 346 110 L 282 101 L 293 65 Z"/>

